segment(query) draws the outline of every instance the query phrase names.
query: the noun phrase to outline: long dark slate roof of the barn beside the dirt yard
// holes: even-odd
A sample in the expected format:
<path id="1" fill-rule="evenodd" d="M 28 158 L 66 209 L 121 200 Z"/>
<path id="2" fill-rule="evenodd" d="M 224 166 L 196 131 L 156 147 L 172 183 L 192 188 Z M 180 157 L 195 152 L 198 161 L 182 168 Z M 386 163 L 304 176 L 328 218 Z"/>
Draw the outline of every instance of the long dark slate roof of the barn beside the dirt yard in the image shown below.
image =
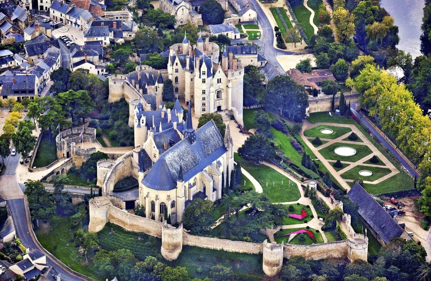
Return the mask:
<path id="1" fill-rule="evenodd" d="M 359 215 L 389 244 L 392 238 L 400 237 L 404 230 L 357 182 L 347 192 L 350 200 L 358 204 Z"/>

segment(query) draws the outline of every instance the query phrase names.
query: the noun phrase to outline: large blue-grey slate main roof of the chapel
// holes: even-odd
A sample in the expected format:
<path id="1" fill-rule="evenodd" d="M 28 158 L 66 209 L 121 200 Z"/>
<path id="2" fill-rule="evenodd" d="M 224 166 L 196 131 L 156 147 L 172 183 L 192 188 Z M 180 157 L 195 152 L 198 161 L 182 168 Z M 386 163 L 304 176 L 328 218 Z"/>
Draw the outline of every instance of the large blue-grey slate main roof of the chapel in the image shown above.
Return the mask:
<path id="1" fill-rule="evenodd" d="M 188 181 L 226 151 L 223 138 L 211 120 L 196 130 L 193 144 L 184 138 L 163 153 L 142 183 L 155 190 L 172 190 L 178 179 Z"/>

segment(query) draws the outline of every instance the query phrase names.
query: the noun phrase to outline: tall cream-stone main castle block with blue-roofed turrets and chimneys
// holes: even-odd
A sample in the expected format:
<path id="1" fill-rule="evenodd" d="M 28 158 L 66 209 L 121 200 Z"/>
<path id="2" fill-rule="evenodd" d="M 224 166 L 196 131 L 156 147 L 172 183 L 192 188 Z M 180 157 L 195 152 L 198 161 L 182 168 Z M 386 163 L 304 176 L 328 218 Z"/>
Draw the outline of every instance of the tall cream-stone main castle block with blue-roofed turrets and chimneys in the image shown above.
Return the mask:
<path id="1" fill-rule="evenodd" d="M 174 83 L 175 96 L 191 100 L 194 115 L 231 111 L 238 123 L 243 124 L 244 65 L 225 49 L 219 59 L 219 46 L 205 43 L 199 36 L 191 46 L 184 35 L 182 43 L 170 48 L 169 79 Z"/>

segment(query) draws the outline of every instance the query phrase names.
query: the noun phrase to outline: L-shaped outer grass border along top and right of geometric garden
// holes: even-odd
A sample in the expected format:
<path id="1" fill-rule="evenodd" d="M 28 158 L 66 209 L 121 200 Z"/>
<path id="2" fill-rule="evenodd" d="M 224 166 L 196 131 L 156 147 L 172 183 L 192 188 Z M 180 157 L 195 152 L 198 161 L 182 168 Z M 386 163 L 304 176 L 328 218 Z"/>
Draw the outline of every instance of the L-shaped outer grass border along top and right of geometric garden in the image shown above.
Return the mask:
<path id="1" fill-rule="evenodd" d="M 394 192 L 413 188 L 413 178 L 408 176 L 403 169 L 400 167 L 397 161 L 394 161 L 389 153 L 387 153 L 381 145 L 379 145 L 375 139 L 373 139 L 365 130 L 356 124 L 351 118 L 346 118 L 338 114 L 334 114 L 333 117 L 329 116 L 328 112 L 317 112 L 310 114 L 308 121 L 312 124 L 316 122 L 331 122 L 338 124 L 354 124 L 359 131 L 361 131 L 367 139 L 400 171 L 395 176 L 391 176 L 389 179 L 380 182 L 378 185 L 372 185 L 365 183 L 364 188 L 371 194 L 381 194 L 387 192 Z M 371 157 L 370 157 L 371 158 Z M 367 162 L 365 162 L 367 163 Z M 348 182 L 349 185 L 353 185 L 352 182 Z"/>

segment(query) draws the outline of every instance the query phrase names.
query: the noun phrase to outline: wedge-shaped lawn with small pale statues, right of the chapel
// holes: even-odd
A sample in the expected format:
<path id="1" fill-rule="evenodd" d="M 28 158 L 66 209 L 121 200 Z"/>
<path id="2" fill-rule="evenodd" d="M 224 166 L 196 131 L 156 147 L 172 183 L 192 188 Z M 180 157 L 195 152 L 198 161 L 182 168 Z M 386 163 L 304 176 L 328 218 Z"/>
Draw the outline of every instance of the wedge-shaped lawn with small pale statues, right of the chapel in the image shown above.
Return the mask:
<path id="1" fill-rule="evenodd" d="M 262 185 L 263 193 L 272 202 L 291 202 L 301 198 L 297 184 L 281 173 L 263 164 L 256 165 L 250 161 L 244 161 L 240 159 L 237 153 L 234 154 L 234 157 L 235 161 L 241 161 L 241 167 L 247 170 Z M 273 181 L 275 182 L 274 185 Z M 268 187 L 266 187 L 266 182 L 268 182 Z"/>

